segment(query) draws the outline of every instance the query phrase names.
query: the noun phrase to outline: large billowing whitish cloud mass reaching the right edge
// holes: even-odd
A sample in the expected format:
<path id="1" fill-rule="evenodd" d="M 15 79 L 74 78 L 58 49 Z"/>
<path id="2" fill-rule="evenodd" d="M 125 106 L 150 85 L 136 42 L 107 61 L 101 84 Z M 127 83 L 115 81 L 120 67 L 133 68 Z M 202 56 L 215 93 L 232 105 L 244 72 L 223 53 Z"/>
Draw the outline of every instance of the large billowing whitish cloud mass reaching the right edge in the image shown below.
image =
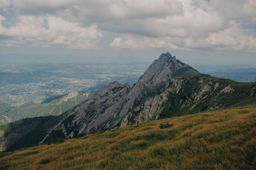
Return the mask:
<path id="1" fill-rule="evenodd" d="M 138 49 L 138 48 L 163 48 L 171 49 L 193 49 L 204 48 L 214 50 L 246 50 L 256 51 L 255 34 L 253 29 L 248 27 L 250 20 L 252 23 L 256 17 L 253 8 L 244 6 L 254 6 L 256 1 L 239 1 L 234 4 L 234 1 L 191 1 L 183 0 L 184 15 L 170 15 L 164 19 L 149 19 L 129 21 L 121 27 L 121 33 L 132 33 L 137 31 L 138 34 L 155 36 L 158 38 L 146 38 L 141 40 L 136 38 L 115 38 L 110 43 L 111 47 Z M 217 7 L 228 8 L 222 11 Z M 234 9 L 237 10 L 235 16 Z M 247 14 L 246 14 L 247 13 Z M 231 17 L 232 15 L 232 17 Z M 235 20 L 237 19 L 237 20 Z M 246 20 L 238 20 L 246 19 Z M 130 24 L 130 25 L 129 25 Z M 150 26 L 150 24 L 152 26 Z M 116 24 L 114 25 L 116 26 Z M 115 29 L 113 26 L 113 29 Z M 132 27 L 136 26 L 136 30 Z M 143 27 L 144 26 L 144 27 Z M 126 29 L 125 29 L 126 28 Z M 127 29 L 129 29 L 127 31 Z M 110 29 L 109 29 L 110 30 Z M 117 31 L 117 30 L 116 30 Z M 129 32 L 130 31 L 130 32 Z M 255 32 L 255 31 L 254 31 Z M 144 33 L 144 34 L 143 34 Z M 145 34 L 146 33 L 146 34 Z M 161 40 L 161 41 L 159 41 Z M 159 45 L 152 45 L 159 43 Z"/>

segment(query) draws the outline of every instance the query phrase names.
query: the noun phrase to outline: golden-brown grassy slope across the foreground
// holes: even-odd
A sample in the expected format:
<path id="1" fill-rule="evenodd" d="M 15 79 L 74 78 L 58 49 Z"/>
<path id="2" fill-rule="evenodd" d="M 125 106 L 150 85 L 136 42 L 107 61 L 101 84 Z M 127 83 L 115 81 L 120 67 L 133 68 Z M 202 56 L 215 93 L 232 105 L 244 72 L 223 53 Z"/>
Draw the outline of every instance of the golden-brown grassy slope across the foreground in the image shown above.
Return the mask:
<path id="1" fill-rule="evenodd" d="M 255 169 L 255 152 L 252 102 L 0 153 L 0 169 Z"/>

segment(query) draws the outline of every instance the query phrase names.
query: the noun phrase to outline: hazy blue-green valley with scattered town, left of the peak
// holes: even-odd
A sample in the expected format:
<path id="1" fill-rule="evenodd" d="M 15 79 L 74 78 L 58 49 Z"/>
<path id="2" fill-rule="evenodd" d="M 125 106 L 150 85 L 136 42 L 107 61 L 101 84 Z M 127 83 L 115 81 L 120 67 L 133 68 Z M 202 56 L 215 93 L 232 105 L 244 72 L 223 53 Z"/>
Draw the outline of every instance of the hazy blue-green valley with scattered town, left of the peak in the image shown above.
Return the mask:
<path id="1" fill-rule="evenodd" d="M 54 109 L 50 105 L 56 102 L 46 103 L 74 91 L 88 94 L 114 80 L 134 83 L 146 67 L 145 63 L 2 63 L 0 125 L 20 118 L 51 115 L 47 112 Z M 71 102 L 56 112 L 67 111 L 84 99 L 80 97 L 77 102 Z M 42 105 L 48 105 L 48 109 Z"/>

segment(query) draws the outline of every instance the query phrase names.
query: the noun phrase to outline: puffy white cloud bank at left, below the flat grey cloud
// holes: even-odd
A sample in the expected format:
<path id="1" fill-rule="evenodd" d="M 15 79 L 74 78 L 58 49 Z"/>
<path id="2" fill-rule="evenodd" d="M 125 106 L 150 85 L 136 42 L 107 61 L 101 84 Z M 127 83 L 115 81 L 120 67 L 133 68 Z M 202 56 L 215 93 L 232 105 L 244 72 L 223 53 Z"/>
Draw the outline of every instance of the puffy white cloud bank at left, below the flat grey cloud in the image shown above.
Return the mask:
<path id="1" fill-rule="evenodd" d="M 1 16 L 1 15 L 0 15 Z M 0 17 L 3 20 L 3 17 Z M 45 22 L 47 27 L 45 27 Z M 88 49 L 95 47 L 95 43 L 102 38 L 97 26 L 81 27 L 76 22 L 68 22 L 59 17 L 20 15 L 19 22 L 10 28 L 0 25 L 0 35 L 15 38 L 8 45 L 33 42 L 34 45 L 47 47 L 49 44 L 62 44 L 67 47 Z M 5 41 L 6 43 L 6 41 Z"/>

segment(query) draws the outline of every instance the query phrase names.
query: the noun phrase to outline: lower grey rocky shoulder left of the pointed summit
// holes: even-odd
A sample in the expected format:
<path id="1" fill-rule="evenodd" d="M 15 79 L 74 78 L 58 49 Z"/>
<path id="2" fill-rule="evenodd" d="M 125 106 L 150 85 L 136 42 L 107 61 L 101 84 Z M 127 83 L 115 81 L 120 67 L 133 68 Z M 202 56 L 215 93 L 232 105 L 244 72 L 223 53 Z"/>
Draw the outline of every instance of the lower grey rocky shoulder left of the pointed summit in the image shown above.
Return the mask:
<path id="1" fill-rule="evenodd" d="M 118 125 L 120 120 L 116 119 L 116 116 L 120 107 L 124 105 L 129 89 L 131 89 L 129 83 L 122 85 L 115 81 L 93 92 L 81 106 L 68 112 L 57 125 L 52 127 L 40 144 L 56 132 L 68 139 L 99 130 L 108 130 L 111 125 Z"/>

